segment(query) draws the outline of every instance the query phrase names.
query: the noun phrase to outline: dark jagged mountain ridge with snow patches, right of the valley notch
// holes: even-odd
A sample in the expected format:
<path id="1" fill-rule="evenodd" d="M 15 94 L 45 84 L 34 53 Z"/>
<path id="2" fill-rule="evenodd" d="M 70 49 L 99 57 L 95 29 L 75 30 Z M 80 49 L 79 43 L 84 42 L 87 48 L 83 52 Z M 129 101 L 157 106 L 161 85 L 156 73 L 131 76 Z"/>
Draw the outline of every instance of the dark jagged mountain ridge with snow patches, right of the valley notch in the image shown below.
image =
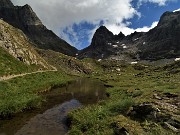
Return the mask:
<path id="1" fill-rule="evenodd" d="M 113 58 L 118 60 L 157 60 L 180 56 L 180 12 L 165 12 L 147 33 L 113 35 L 105 26 L 95 32 L 91 45 L 79 58 Z"/>

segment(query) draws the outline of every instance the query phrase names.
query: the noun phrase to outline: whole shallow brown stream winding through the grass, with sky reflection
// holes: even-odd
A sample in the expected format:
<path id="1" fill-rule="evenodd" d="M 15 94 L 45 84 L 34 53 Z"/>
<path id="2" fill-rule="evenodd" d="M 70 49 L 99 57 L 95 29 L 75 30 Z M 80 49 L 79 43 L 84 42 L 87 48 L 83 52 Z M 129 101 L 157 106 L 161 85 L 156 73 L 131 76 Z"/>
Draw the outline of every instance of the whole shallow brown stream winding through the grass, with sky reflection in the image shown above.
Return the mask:
<path id="1" fill-rule="evenodd" d="M 43 96 L 47 102 L 42 108 L 0 120 L 0 135 L 64 135 L 68 131 L 65 123 L 69 111 L 106 97 L 103 83 L 87 78 L 77 79 Z"/>

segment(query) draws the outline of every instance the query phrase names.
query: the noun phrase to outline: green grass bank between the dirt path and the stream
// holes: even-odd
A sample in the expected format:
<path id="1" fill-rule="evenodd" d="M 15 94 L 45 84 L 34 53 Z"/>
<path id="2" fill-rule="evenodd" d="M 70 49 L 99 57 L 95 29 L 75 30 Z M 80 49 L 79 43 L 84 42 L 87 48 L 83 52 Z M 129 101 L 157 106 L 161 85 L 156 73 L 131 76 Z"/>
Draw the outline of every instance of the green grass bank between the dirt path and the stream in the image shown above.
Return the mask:
<path id="1" fill-rule="evenodd" d="M 46 72 L 0 82 L 0 115 L 7 116 L 39 107 L 43 100 L 39 92 L 63 86 L 72 79 L 62 72 Z"/>

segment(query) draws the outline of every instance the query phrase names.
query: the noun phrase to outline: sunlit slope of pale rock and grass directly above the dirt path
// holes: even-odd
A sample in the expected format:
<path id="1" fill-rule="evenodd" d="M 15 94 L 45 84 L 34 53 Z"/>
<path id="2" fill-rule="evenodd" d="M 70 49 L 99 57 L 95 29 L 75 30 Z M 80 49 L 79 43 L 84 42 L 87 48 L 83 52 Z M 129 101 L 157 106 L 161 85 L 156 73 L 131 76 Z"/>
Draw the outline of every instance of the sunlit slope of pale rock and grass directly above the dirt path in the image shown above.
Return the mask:
<path id="1" fill-rule="evenodd" d="M 3 20 L 0 20 L 0 52 L 0 75 L 52 69 L 32 48 L 23 32 Z"/>

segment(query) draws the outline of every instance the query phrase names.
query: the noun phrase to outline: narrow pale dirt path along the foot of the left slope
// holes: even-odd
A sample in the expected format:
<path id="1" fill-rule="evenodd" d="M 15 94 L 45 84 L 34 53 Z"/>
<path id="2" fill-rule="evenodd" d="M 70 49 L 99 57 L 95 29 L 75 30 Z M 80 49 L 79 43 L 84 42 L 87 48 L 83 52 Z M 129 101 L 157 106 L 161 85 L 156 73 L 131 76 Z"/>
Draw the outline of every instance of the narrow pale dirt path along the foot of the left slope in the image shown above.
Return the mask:
<path id="1" fill-rule="evenodd" d="M 56 72 L 56 71 L 57 71 L 57 69 L 35 71 L 35 72 L 31 72 L 31 73 L 23 73 L 23 74 L 17 74 L 17 75 L 2 76 L 2 77 L 0 77 L 0 81 L 6 81 L 6 80 L 10 80 L 10 79 L 13 79 L 13 78 L 16 78 L 16 77 L 21 77 L 21 76 L 30 75 L 30 74 L 44 73 L 44 72 Z"/>

